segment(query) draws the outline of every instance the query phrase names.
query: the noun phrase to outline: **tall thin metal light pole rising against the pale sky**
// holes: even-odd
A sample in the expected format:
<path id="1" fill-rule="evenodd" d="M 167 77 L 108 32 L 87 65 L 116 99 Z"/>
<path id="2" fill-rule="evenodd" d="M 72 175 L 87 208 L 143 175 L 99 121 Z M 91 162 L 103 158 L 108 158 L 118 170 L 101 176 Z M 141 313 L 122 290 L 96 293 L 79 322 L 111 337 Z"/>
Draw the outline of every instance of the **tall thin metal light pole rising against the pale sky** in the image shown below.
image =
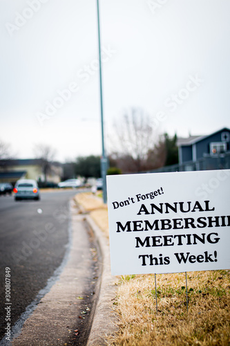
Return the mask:
<path id="1" fill-rule="evenodd" d="M 98 48 L 99 48 L 99 84 L 100 84 L 100 102 L 101 102 L 101 122 L 102 122 L 102 158 L 101 158 L 101 172 L 103 180 L 103 201 L 107 202 L 106 190 L 106 170 L 107 170 L 107 156 L 104 148 L 104 120 L 103 120 L 103 98 L 102 98 L 102 57 L 101 57 L 101 39 L 100 39 L 100 23 L 99 23 L 99 0 L 97 0 L 97 28 L 98 28 Z"/>

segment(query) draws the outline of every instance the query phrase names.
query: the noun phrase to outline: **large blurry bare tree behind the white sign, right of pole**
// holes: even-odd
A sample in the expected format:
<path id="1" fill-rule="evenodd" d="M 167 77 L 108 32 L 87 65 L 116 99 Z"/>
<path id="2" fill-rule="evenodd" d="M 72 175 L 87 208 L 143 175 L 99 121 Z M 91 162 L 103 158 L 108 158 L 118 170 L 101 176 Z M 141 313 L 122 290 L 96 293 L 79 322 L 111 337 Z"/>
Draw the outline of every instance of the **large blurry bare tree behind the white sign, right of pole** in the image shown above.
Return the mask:
<path id="1" fill-rule="evenodd" d="M 151 117 L 143 109 L 132 108 L 115 120 L 109 140 L 111 159 L 122 172 L 151 170 L 155 167 L 153 156 L 158 140 Z"/>

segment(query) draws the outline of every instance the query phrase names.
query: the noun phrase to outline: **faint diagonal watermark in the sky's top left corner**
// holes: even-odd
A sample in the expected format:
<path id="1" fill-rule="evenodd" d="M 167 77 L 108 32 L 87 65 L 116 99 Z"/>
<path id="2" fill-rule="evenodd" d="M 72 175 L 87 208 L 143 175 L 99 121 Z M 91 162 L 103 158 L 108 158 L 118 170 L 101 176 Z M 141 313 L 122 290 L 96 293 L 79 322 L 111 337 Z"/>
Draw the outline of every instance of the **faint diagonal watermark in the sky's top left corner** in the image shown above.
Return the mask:
<path id="1" fill-rule="evenodd" d="M 6 30 L 8 34 L 12 36 L 14 33 L 17 33 L 23 26 L 25 26 L 30 19 L 35 15 L 35 13 L 39 12 L 42 5 L 44 3 L 48 3 L 49 0 L 28 0 L 26 3 L 28 4 L 21 13 L 15 12 L 15 19 L 13 23 L 9 21 L 6 22 Z"/>

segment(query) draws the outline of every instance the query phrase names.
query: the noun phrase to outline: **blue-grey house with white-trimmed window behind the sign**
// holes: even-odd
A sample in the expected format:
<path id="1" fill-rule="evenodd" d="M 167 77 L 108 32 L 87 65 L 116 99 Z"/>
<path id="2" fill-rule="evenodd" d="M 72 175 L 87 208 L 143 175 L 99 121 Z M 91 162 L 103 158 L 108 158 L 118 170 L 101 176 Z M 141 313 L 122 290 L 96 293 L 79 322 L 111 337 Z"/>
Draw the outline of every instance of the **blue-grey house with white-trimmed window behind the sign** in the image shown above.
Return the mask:
<path id="1" fill-rule="evenodd" d="M 178 138 L 179 164 L 197 162 L 205 156 L 219 156 L 230 151 L 230 129 L 224 127 L 208 136 Z"/>

